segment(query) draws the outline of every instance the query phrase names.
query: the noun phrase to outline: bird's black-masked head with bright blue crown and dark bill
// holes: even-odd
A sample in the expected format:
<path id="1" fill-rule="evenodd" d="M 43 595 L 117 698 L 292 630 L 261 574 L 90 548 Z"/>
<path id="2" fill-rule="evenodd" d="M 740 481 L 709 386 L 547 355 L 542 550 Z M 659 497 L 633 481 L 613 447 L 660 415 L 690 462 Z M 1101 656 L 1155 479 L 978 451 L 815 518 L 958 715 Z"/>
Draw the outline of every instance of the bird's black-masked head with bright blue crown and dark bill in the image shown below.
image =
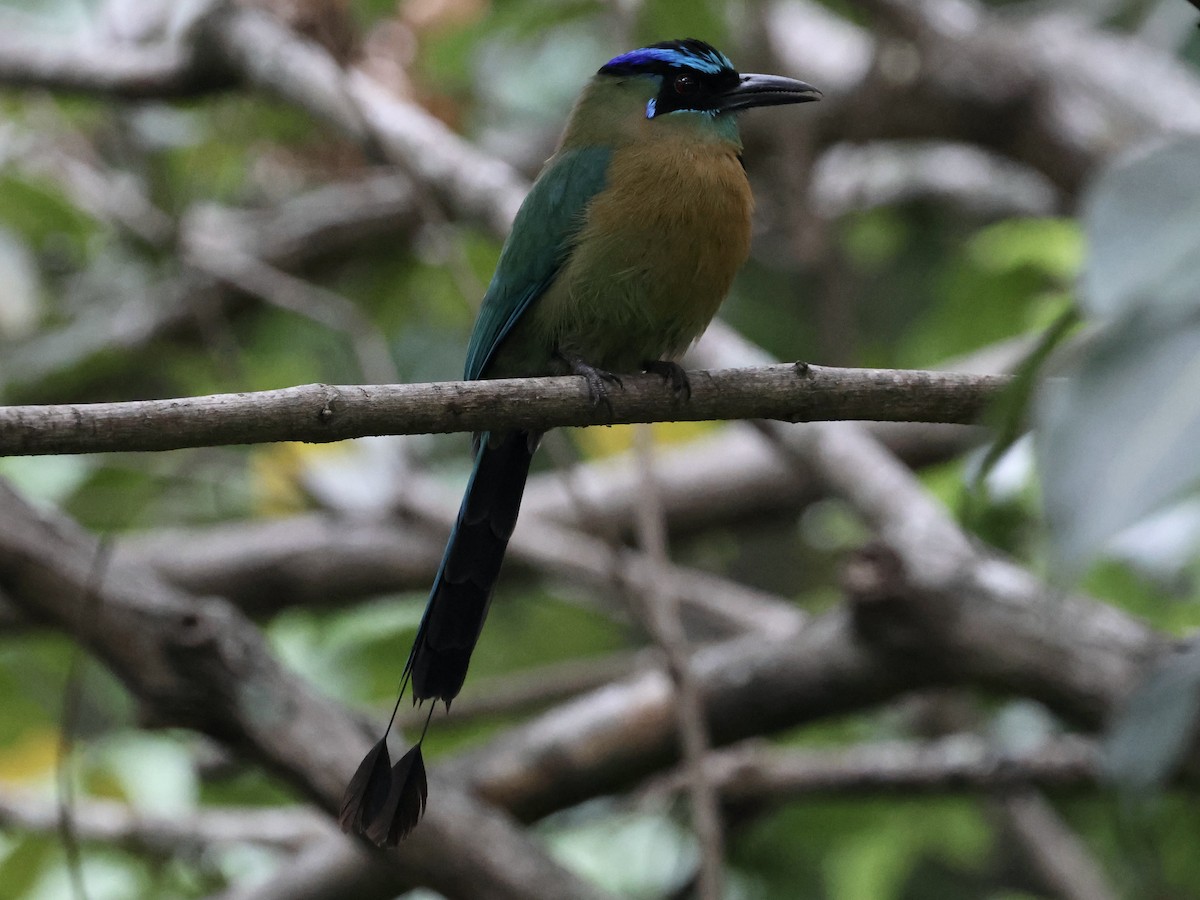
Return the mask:
<path id="1" fill-rule="evenodd" d="M 686 38 L 630 50 L 608 60 L 596 82 L 617 82 L 642 96 L 647 119 L 679 113 L 708 116 L 737 113 L 751 107 L 804 103 L 821 91 L 794 78 L 740 74 L 730 58 L 712 44 Z"/>

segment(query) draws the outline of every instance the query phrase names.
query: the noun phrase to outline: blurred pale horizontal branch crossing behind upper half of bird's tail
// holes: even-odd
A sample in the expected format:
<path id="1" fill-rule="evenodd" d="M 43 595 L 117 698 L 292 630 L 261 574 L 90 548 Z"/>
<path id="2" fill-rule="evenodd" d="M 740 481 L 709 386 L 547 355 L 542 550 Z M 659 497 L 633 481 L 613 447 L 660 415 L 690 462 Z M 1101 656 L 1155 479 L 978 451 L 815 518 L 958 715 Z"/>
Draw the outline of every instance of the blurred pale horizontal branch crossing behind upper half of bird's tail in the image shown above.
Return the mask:
<path id="1" fill-rule="evenodd" d="M 970 426 L 884 422 L 864 427 L 914 467 L 952 458 L 983 439 L 982 430 Z M 748 425 L 662 448 L 654 461 L 654 478 L 672 534 L 728 526 L 750 515 L 794 512 L 822 493 L 811 475 L 788 466 Z M 564 485 L 568 479 L 569 488 Z M 529 538 L 528 556 L 514 546 L 510 562 L 544 568 L 572 583 L 586 581 L 608 589 L 601 578 L 602 557 L 592 550 L 598 541 L 589 538 L 584 550 L 571 535 L 630 533 L 637 494 L 637 476 L 628 458 L 619 455 L 589 461 L 565 474 L 533 476 L 521 521 L 540 522 L 541 527 Z M 442 500 L 439 515 L 430 515 L 436 527 L 384 516 L 302 514 L 160 527 L 122 535 L 116 552 L 152 566 L 185 590 L 224 596 L 251 616 L 293 606 L 344 604 L 371 594 L 428 587 L 442 559 L 445 529 L 457 498 L 443 492 Z M 433 504 L 428 509 L 432 511 Z M 520 546 L 524 546 L 522 528 L 518 526 Z M 568 560 L 548 563 L 542 538 L 553 539 L 551 546 L 562 545 Z M 581 559 L 596 560 L 595 575 L 580 571 Z M 709 608 L 721 601 L 720 606 L 731 613 L 740 611 L 762 623 L 748 592 L 731 587 L 726 580 L 694 572 L 688 577 L 685 596 L 695 600 L 702 593 L 709 594 Z M 20 620 L 6 614 L 10 611 L 11 606 L 0 602 L 0 629 L 18 626 Z M 767 620 L 775 622 L 774 617 Z"/>

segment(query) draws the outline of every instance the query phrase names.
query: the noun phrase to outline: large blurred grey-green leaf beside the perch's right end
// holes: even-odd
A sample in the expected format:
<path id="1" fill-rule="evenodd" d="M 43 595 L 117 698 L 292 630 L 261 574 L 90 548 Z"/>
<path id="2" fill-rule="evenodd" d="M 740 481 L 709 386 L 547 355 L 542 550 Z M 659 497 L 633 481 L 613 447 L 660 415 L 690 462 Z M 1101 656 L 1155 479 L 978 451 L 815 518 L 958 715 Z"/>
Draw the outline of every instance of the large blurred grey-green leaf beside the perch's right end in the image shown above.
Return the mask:
<path id="1" fill-rule="evenodd" d="M 1200 484 L 1200 140 L 1102 176 L 1081 305 L 1100 319 L 1037 406 L 1050 545 L 1074 577 Z"/>

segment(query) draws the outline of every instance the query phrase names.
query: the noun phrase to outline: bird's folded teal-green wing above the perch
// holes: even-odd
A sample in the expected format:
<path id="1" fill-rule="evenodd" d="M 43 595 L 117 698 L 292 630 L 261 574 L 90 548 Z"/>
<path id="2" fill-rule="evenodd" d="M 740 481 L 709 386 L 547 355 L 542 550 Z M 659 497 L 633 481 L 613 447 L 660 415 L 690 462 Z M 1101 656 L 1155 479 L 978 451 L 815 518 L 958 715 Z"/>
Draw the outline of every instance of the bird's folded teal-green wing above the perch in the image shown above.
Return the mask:
<path id="1" fill-rule="evenodd" d="M 512 325 L 570 256 L 588 203 L 604 190 L 612 151 L 559 154 L 534 182 L 500 251 L 467 346 L 467 379 L 481 378 Z"/>

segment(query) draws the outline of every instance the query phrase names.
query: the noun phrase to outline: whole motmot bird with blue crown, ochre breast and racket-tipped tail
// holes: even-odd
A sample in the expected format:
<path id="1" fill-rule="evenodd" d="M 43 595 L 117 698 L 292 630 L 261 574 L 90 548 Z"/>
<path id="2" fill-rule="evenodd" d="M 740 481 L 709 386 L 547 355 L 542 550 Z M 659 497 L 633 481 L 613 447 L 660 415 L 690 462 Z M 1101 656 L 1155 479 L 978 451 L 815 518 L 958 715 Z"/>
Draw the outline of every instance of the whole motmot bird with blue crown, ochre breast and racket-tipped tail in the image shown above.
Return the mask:
<path id="1" fill-rule="evenodd" d="M 512 223 L 466 378 L 575 373 L 599 404 L 622 373 L 652 371 L 689 392 L 674 360 L 708 326 L 750 252 L 737 113 L 818 96 L 792 78 L 740 74 L 694 38 L 605 64 Z M 448 708 L 458 696 L 540 437 L 474 436 L 475 467 L 401 696 L 412 685 L 414 702 Z M 415 827 L 427 797 L 424 738 L 392 767 L 384 732 L 347 787 L 343 829 L 392 845 Z"/>

